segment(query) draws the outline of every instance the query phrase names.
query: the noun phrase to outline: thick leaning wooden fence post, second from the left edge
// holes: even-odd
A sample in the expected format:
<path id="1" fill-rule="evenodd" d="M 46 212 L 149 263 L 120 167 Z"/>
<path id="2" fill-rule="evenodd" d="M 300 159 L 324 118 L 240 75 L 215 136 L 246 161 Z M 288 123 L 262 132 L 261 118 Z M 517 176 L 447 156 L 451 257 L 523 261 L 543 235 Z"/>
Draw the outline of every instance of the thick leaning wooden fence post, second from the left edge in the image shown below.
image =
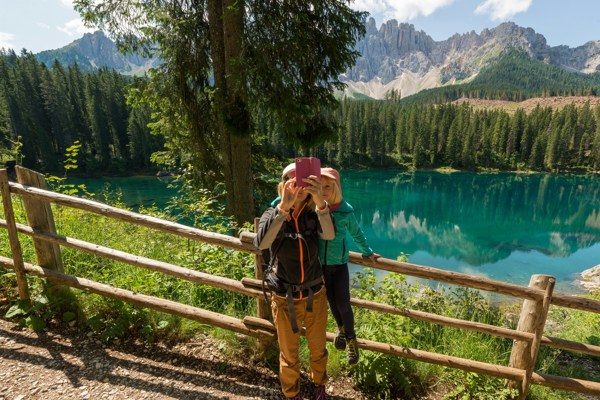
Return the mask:
<path id="1" fill-rule="evenodd" d="M 16 166 L 15 169 L 17 172 L 17 180 L 20 184 L 44 190 L 48 189 L 44 175 L 21 166 Z M 56 234 L 56 226 L 54 225 L 54 216 L 52 215 L 50 203 L 23 196 L 23 205 L 25 206 L 29 226 L 38 231 Z M 41 267 L 56 272 L 64 272 L 60 247 L 56 243 L 33 239 L 33 246 L 35 248 L 38 264 Z M 63 293 L 68 291 L 68 287 L 64 285 L 52 284 L 50 282 L 48 285 L 50 293 Z"/>

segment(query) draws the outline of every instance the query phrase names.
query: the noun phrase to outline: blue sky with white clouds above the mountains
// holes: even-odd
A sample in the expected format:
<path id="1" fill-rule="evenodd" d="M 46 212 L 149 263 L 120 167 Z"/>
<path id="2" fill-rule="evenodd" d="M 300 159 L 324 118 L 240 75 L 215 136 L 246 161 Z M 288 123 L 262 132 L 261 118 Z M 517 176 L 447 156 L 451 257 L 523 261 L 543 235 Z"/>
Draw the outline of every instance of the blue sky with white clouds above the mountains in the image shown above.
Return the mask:
<path id="1" fill-rule="evenodd" d="M 533 28 L 550 46 L 581 46 L 600 40 L 599 0 L 356 0 L 377 26 L 389 19 L 409 22 L 434 40 L 494 28 L 504 21 Z M 0 48 L 37 53 L 71 43 L 92 31 L 72 0 L 0 0 Z"/>

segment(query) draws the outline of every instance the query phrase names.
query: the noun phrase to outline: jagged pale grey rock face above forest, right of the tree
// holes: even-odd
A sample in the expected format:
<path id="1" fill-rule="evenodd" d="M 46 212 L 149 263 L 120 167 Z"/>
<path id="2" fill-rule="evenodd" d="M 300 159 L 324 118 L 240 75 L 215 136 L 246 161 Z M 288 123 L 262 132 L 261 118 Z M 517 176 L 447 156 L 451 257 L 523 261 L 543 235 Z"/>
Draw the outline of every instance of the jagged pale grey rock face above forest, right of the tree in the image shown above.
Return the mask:
<path id="1" fill-rule="evenodd" d="M 471 31 L 436 42 L 412 24 L 390 20 L 379 29 L 370 18 L 366 35 L 357 45 L 361 56 L 344 75 L 347 93 L 381 98 L 389 89 L 402 97 L 422 89 L 468 81 L 503 51 L 515 48 L 531 57 L 584 73 L 600 70 L 600 41 L 577 48 L 550 47 L 543 35 L 512 22 L 480 34 Z M 385 90 L 384 90 L 385 88 Z"/>

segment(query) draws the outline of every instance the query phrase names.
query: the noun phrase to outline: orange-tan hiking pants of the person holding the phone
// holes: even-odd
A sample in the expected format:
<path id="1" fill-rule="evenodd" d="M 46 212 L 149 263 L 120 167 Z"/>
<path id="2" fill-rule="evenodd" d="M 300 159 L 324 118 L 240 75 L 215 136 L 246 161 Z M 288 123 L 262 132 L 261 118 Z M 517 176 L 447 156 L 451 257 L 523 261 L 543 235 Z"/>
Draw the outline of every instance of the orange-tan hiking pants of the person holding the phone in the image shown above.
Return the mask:
<path id="1" fill-rule="evenodd" d="M 292 331 L 287 300 L 272 293 L 271 308 L 279 341 L 279 380 L 286 397 L 300 392 L 300 333 Z M 306 311 L 307 299 L 294 299 L 294 311 L 298 327 L 306 328 L 306 339 L 310 350 L 310 377 L 315 385 L 327 382 L 327 296 L 325 286 L 314 294 L 313 311 Z"/>

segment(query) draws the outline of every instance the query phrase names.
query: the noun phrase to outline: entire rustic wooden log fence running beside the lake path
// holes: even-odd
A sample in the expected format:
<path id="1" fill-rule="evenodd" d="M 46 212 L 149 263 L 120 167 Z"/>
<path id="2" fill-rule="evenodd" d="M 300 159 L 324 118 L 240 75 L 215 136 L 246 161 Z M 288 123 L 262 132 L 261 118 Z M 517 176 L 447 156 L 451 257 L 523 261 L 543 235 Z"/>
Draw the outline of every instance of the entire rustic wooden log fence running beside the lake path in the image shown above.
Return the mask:
<path id="1" fill-rule="evenodd" d="M 263 300 L 263 293 L 261 290 L 262 272 L 259 267 L 261 265 L 260 252 L 252 245 L 252 239 L 255 236 L 254 233 L 246 232 L 239 238 L 235 238 L 191 228 L 151 216 L 111 207 L 95 201 L 51 192 L 46 190 L 45 181 L 42 175 L 21 167 L 17 167 L 16 172 L 19 183 L 9 182 L 7 171 L 0 170 L 0 192 L 5 215 L 5 219 L 0 220 L 0 227 L 8 231 L 12 252 L 12 258 L 0 257 L 0 265 L 15 270 L 19 297 L 21 299 L 27 300 L 29 298 L 26 274 L 33 274 L 47 278 L 48 281 L 54 285 L 55 290 L 62 290 L 62 288 L 65 287 L 86 290 L 91 293 L 123 300 L 138 306 L 175 314 L 191 320 L 256 337 L 259 339 L 261 345 L 267 345 L 276 339 L 275 328 L 269 319 L 269 308 Z M 22 196 L 29 226 L 16 223 L 11 194 Z M 244 278 L 241 281 L 237 281 L 225 277 L 214 276 L 182 268 L 167 262 L 140 257 L 59 235 L 55 229 L 50 207 L 51 203 L 97 213 L 106 217 L 153 228 L 188 239 L 255 254 L 256 279 Z M 23 261 L 21 245 L 18 238 L 19 233 L 32 237 L 38 265 L 32 265 Z M 197 284 L 210 285 L 256 298 L 258 301 L 258 315 L 246 316 L 240 320 L 238 318 L 191 307 L 185 304 L 134 293 L 82 277 L 67 275 L 63 271 L 60 246 L 78 249 L 136 267 L 158 271 Z M 526 287 L 385 258 L 372 262 L 369 259 L 362 258 L 357 253 L 350 254 L 350 261 L 354 264 L 378 268 L 392 273 L 400 273 L 438 282 L 461 285 L 523 299 L 522 311 L 516 329 L 449 318 L 433 313 L 399 308 L 356 298 L 351 300 L 355 307 L 401 315 L 438 325 L 467 329 L 512 339 L 513 348 L 508 366 L 422 351 L 397 346 L 391 343 L 380 343 L 368 339 L 358 339 L 359 347 L 365 350 L 504 378 L 509 381 L 511 386 L 519 390 L 521 399 L 525 399 L 531 384 L 585 394 L 600 395 L 600 382 L 548 375 L 535 372 L 534 370 L 540 346 L 549 346 L 577 353 L 600 356 L 600 346 L 554 338 L 543 334 L 550 306 L 567 307 L 592 313 L 600 313 L 600 301 L 554 293 L 555 278 L 547 275 L 533 275 L 529 286 Z M 327 340 L 333 341 L 333 338 L 334 334 L 328 332 Z"/>

